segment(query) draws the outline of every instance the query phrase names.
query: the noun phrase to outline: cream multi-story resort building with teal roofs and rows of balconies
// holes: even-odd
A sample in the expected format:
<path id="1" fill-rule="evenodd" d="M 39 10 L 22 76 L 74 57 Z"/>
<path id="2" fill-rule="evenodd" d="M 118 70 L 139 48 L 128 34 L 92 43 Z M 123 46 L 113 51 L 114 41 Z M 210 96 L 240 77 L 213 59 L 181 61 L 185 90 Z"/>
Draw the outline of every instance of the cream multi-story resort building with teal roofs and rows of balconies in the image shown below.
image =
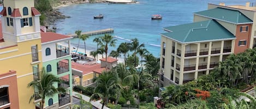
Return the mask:
<path id="1" fill-rule="evenodd" d="M 254 14 L 246 12 L 209 4 L 208 10 L 194 13 L 193 23 L 165 27 L 168 33 L 161 34 L 160 87 L 195 80 L 209 74 L 231 53 L 252 48 Z"/>

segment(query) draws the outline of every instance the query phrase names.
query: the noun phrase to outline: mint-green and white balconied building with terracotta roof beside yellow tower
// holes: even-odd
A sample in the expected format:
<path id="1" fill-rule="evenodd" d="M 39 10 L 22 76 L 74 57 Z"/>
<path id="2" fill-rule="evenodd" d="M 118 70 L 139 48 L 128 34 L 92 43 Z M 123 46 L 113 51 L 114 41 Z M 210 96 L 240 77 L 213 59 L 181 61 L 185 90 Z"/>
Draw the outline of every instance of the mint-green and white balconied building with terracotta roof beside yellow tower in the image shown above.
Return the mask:
<path id="1" fill-rule="evenodd" d="M 70 39 L 73 37 L 41 30 L 41 49 L 43 67 L 47 73 L 56 75 L 62 83 L 55 87 L 66 88 L 66 93 L 55 94 L 45 98 L 45 108 L 66 109 L 72 105 L 72 70 Z"/>

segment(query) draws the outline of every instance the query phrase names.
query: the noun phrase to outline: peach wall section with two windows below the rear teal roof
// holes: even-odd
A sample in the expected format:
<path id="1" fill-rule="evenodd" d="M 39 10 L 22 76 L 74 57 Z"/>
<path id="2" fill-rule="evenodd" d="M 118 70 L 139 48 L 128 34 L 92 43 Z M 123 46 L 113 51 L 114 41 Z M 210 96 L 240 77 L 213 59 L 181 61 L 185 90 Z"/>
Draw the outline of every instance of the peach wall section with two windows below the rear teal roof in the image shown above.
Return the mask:
<path id="1" fill-rule="evenodd" d="M 241 26 L 248 26 L 248 31 L 246 32 L 240 32 L 240 27 Z M 250 39 L 251 39 L 251 29 L 252 29 L 252 24 L 240 24 L 237 25 L 236 27 L 236 41 L 235 41 L 235 50 L 234 53 L 241 53 L 241 52 L 245 52 L 245 50 L 247 48 L 249 48 L 249 45 L 251 43 Z M 239 46 L 239 41 L 240 40 L 246 40 L 246 45 L 245 46 Z"/>

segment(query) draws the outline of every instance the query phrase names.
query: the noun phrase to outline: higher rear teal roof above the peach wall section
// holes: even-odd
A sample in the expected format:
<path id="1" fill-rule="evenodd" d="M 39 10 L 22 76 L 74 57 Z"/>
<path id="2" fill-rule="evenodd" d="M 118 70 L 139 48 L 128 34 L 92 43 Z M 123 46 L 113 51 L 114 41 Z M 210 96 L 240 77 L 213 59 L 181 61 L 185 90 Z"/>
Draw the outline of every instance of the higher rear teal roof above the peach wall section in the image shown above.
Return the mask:
<path id="1" fill-rule="evenodd" d="M 231 23 L 252 23 L 248 17 L 243 15 L 240 11 L 224 9 L 224 8 L 213 8 L 205 11 L 195 12 L 195 15 L 210 17 L 216 20 L 222 20 Z"/>

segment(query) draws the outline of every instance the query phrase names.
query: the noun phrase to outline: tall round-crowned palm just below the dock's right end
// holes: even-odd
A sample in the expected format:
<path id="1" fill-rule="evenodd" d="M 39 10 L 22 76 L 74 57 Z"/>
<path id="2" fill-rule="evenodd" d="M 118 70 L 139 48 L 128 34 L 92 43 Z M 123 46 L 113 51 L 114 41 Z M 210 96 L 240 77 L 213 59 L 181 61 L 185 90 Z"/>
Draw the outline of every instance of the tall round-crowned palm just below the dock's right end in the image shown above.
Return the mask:
<path id="1" fill-rule="evenodd" d="M 107 57 L 108 57 L 108 46 L 110 47 L 115 47 L 116 44 L 116 39 L 114 39 L 113 36 L 109 35 L 109 34 L 105 34 L 104 36 L 100 37 L 100 41 L 102 43 L 102 45 L 105 47 L 105 57 L 106 57 L 106 69 L 108 68 L 107 64 Z"/>

